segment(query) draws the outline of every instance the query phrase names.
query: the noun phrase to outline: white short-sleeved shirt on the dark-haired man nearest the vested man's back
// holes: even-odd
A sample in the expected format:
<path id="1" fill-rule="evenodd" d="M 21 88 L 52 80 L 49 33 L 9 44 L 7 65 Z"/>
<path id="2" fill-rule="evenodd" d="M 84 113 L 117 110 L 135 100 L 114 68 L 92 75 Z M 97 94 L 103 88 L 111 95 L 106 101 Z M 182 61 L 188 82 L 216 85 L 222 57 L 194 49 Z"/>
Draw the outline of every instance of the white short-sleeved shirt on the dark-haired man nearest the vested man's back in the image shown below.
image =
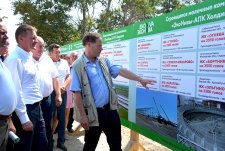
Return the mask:
<path id="1" fill-rule="evenodd" d="M 54 62 L 56 69 L 59 72 L 59 83 L 62 86 L 66 80 L 66 76 L 70 74 L 70 67 L 66 60 L 60 59 L 57 62 Z"/>

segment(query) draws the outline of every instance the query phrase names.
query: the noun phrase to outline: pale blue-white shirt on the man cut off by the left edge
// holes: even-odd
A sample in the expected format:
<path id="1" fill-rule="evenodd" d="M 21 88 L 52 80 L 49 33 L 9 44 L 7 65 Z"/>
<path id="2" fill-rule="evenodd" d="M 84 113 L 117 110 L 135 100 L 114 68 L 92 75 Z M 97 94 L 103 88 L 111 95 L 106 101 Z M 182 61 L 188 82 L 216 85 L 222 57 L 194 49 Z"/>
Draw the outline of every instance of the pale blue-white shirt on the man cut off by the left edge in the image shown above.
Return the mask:
<path id="1" fill-rule="evenodd" d="M 16 88 L 11 73 L 0 60 L 0 115 L 12 114 L 16 104 Z"/>

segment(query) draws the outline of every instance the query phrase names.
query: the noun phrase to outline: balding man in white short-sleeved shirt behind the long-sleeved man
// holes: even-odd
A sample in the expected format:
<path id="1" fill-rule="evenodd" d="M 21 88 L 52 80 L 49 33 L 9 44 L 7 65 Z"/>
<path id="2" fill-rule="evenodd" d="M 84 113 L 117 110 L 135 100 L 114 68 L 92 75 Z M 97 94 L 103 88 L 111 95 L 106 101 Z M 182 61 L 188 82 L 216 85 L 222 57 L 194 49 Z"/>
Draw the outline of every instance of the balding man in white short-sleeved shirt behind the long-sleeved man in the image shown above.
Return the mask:
<path id="1" fill-rule="evenodd" d="M 62 103 L 58 71 L 52 61 L 52 59 L 44 53 L 45 43 L 41 37 L 37 37 L 37 43 L 35 49 L 32 49 L 33 60 L 40 73 L 40 84 L 43 99 L 41 101 L 41 109 L 45 120 L 46 136 L 48 139 L 48 151 L 53 151 L 52 144 L 52 104 L 51 93 L 53 88 L 56 92 L 55 103 L 56 106 L 60 106 Z"/>

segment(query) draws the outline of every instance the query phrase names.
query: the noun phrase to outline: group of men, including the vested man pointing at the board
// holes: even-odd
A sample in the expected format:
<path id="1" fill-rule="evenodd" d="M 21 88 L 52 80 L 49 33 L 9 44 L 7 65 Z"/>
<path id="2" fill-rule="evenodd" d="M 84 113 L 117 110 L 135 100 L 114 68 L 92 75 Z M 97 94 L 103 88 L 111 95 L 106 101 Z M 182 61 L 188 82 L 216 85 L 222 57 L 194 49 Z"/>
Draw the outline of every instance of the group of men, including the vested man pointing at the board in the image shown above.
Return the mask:
<path id="1" fill-rule="evenodd" d="M 0 60 L 0 150 L 6 150 L 8 131 L 20 137 L 15 150 L 53 150 L 52 133 L 56 125 L 57 147 L 67 150 L 64 142 L 69 85 L 76 120 L 85 129 L 83 150 L 94 151 L 102 131 L 110 150 L 122 150 L 118 98 L 111 77 L 120 75 L 146 88 L 155 81 L 143 79 L 100 57 L 103 48 L 98 33 L 84 36 L 84 53 L 70 69 L 66 60 L 60 59 L 58 44 L 48 47 L 50 57 L 44 53 L 44 40 L 36 32 L 31 25 L 19 26 L 15 33 L 16 49 L 4 63 Z M 8 45 L 7 29 L 0 23 L 2 56 L 7 54 Z M 52 122 L 54 114 L 58 122 Z"/>

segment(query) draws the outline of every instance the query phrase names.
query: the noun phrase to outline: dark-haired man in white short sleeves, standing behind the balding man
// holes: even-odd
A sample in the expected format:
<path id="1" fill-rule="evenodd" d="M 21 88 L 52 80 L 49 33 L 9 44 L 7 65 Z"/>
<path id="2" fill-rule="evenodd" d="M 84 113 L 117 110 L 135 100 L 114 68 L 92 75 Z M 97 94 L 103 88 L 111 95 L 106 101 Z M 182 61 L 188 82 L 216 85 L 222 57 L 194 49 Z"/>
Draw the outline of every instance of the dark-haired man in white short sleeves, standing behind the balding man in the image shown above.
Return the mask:
<path id="1" fill-rule="evenodd" d="M 49 55 L 53 60 L 58 72 L 59 72 L 59 82 L 62 96 L 62 104 L 59 107 L 53 107 L 53 113 L 57 110 L 57 118 L 58 118 L 58 140 L 57 147 L 66 151 L 67 148 L 64 145 L 65 142 L 65 112 L 66 112 L 66 101 L 67 101 L 67 93 L 66 87 L 71 81 L 70 77 L 70 68 L 66 60 L 60 59 L 60 46 L 58 44 L 51 44 L 48 47 Z M 52 93 L 52 99 L 54 100 L 55 92 Z M 52 101 L 53 101 L 52 100 Z M 57 120 L 53 120 L 53 128 L 54 132 L 57 126 Z"/>

